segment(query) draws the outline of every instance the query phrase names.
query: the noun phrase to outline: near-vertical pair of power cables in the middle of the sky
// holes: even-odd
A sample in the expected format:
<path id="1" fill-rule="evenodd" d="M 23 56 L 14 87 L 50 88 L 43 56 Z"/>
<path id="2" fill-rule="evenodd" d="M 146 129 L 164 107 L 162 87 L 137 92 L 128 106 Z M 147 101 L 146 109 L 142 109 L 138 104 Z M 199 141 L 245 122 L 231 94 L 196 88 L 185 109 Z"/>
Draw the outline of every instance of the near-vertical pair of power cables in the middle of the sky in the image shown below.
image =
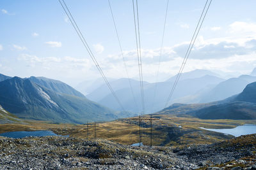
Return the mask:
<path id="1" fill-rule="evenodd" d="M 141 105 L 142 105 L 142 113 L 144 113 L 145 102 L 144 102 L 143 74 L 142 74 L 142 62 L 141 62 L 140 21 L 139 21 L 138 0 L 136 0 L 136 10 L 134 8 L 134 0 L 132 0 L 132 8 L 133 8 L 133 17 L 134 17 L 134 29 L 135 29 L 135 37 L 136 37 L 138 67 L 139 67 L 139 75 L 140 75 Z"/>

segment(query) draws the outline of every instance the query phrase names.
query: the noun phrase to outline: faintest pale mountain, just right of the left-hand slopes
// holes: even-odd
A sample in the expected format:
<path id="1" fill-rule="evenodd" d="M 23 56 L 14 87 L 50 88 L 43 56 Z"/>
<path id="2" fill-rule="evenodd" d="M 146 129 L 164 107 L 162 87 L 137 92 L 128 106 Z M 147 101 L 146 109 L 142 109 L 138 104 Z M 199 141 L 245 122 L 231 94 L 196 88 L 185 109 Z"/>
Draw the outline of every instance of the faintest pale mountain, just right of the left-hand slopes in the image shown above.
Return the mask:
<path id="1" fill-rule="evenodd" d="M 113 78 L 108 78 L 108 81 L 114 81 L 115 79 Z M 93 92 L 95 89 L 99 88 L 101 85 L 104 85 L 105 81 L 103 78 L 98 78 L 95 81 L 83 81 L 79 83 L 75 89 L 79 90 L 79 92 L 82 92 L 84 95 L 88 95 L 91 92 Z"/>

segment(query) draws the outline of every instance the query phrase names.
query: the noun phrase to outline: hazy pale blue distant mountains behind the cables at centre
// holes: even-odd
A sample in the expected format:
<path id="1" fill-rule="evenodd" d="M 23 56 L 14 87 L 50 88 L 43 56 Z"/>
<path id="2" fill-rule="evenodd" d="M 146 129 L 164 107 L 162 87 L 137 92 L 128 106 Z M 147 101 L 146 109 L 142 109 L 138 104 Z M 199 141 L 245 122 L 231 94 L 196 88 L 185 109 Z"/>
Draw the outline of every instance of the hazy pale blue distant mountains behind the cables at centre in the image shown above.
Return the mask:
<path id="1" fill-rule="evenodd" d="M 208 73 L 211 75 L 209 75 Z M 177 100 L 184 96 L 198 94 L 200 90 L 209 87 L 214 87 L 221 81 L 224 81 L 224 79 L 213 75 L 216 74 L 212 73 L 211 71 L 205 70 L 196 70 L 192 71 L 191 73 L 183 73 L 181 76 L 183 78 L 179 81 L 179 84 L 177 85 L 177 89 L 175 90 L 172 99 Z M 189 78 L 190 76 L 192 78 Z M 166 103 L 166 99 L 170 94 L 170 89 L 172 89 L 174 83 L 174 81 L 172 80 L 175 80 L 175 76 L 163 82 L 143 82 L 145 108 L 147 109 L 145 110 L 145 113 L 152 113 L 154 111 L 159 111 L 163 109 L 164 104 Z M 132 91 L 131 88 L 129 87 L 129 81 L 131 81 Z M 137 113 L 141 111 L 140 81 L 121 78 L 115 81 L 111 81 L 110 84 L 115 90 L 116 96 L 118 96 L 118 98 L 120 99 L 125 110 Z M 134 97 L 132 96 L 132 93 L 134 94 Z M 113 110 L 121 109 L 105 84 L 95 89 L 86 97 L 104 106 L 108 106 Z M 198 101 L 200 100 L 198 99 Z"/>

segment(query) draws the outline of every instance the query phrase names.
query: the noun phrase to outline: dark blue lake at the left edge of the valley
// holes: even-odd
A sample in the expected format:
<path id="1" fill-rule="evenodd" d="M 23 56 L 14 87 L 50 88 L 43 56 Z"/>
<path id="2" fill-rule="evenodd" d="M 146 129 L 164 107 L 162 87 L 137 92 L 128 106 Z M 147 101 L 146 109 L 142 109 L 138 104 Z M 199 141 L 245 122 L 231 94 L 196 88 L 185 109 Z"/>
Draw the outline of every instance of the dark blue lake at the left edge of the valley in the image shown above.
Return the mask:
<path id="1" fill-rule="evenodd" d="M 28 136 L 61 136 L 61 135 L 55 134 L 52 131 L 17 131 L 17 132 L 5 132 L 0 134 L 0 136 L 4 136 L 8 138 L 25 138 Z"/>

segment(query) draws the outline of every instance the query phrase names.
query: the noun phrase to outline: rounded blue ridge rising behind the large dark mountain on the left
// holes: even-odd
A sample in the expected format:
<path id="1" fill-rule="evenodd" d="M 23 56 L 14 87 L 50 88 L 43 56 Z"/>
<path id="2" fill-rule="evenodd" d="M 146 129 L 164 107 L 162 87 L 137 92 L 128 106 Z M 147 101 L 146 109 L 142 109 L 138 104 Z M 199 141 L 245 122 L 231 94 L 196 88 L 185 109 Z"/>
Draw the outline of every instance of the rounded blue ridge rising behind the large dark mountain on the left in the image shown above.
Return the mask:
<path id="1" fill-rule="evenodd" d="M 31 81 L 35 82 L 36 84 L 38 84 L 42 87 L 45 87 L 47 89 L 50 89 L 54 92 L 69 94 L 69 95 L 77 96 L 77 97 L 85 97 L 83 94 L 81 94 L 81 92 L 78 92 L 77 90 L 73 89 L 66 83 L 63 83 L 58 80 L 52 80 L 50 78 L 35 77 L 35 76 L 31 76 L 30 78 L 28 78 L 28 80 L 31 80 Z"/>

